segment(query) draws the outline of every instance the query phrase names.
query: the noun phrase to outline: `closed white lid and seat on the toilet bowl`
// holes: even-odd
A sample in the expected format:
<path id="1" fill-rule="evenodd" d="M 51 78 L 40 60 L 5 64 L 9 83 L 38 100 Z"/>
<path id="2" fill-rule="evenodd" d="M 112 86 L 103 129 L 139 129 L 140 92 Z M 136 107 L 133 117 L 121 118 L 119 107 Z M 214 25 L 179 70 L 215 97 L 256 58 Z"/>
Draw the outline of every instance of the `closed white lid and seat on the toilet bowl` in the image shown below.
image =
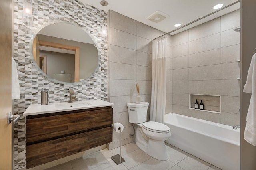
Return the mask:
<path id="1" fill-rule="evenodd" d="M 142 124 L 143 128 L 153 131 L 153 132 L 160 132 L 160 133 L 168 133 L 170 132 L 170 128 L 162 123 L 159 122 L 145 122 Z"/>

